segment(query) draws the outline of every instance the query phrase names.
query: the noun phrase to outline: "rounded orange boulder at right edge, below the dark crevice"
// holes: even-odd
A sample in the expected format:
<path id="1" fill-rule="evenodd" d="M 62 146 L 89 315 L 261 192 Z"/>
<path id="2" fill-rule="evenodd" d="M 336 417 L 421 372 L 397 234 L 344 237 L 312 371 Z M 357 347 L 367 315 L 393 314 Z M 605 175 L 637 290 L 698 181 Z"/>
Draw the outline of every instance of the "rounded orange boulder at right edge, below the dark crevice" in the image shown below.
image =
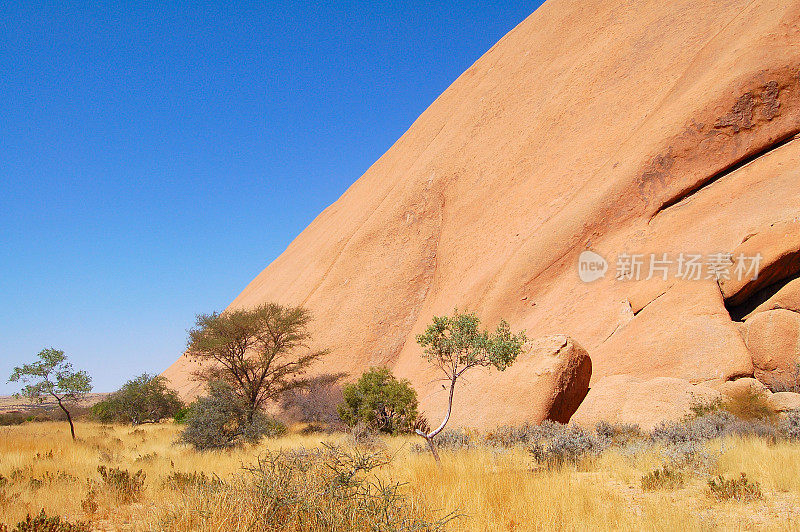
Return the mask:
<path id="1" fill-rule="evenodd" d="M 742 338 L 753 358 L 755 377 L 770 388 L 797 383 L 800 378 L 800 314 L 768 310 L 744 323 Z"/>

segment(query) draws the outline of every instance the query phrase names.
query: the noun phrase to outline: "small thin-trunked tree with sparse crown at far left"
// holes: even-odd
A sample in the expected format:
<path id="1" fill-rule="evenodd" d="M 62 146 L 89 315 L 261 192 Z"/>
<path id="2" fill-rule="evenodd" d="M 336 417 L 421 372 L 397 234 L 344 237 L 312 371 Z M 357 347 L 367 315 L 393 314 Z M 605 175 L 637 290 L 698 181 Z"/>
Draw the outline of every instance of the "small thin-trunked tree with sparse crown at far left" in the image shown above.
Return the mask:
<path id="1" fill-rule="evenodd" d="M 14 368 L 8 382 L 28 383 L 22 395 L 31 401 L 42 403 L 47 396 L 53 397 L 64 414 L 67 415 L 70 434 L 75 439 L 75 425 L 64 403 L 74 403 L 92 391 L 92 378 L 85 371 L 75 371 L 67 361 L 64 351 L 49 347 L 36 355 L 39 360 L 32 364 Z"/>

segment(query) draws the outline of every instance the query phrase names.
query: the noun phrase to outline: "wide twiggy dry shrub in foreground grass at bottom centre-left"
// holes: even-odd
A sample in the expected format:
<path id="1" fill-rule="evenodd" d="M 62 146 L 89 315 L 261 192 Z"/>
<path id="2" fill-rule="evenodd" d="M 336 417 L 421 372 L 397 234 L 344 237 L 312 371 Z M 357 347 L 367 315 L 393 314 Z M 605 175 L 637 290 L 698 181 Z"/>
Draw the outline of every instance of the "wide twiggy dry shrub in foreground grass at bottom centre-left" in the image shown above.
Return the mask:
<path id="1" fill-rule="evenodd" d="M 377 475 L 390 458 L 365 448 L 325 446 L 267 452 L 215 490 L 186 494 L 186 513 L 161 520 L 183 529 L 202 509 L 204 527 L 247 530 L 440 530 L 454 518 L 427 520 L 403 486 Z"/>

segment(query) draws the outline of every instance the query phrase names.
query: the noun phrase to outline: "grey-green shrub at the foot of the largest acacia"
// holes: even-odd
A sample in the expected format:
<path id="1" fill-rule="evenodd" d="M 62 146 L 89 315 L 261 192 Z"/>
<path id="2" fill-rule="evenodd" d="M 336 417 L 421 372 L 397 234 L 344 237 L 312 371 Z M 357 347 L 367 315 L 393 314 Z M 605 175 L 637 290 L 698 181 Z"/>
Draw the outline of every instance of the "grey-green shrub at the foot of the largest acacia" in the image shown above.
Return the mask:
<path id="1" fill-rule="evenodd" d="M 223 381 L 208 384 L 208 397 L 192 405 L 181 434 L 181 441 L 203 451 L 257 443 L 263 437 L 276 437 L 286 426 L 260 410 L 250 412 L 233 388 Z"/>

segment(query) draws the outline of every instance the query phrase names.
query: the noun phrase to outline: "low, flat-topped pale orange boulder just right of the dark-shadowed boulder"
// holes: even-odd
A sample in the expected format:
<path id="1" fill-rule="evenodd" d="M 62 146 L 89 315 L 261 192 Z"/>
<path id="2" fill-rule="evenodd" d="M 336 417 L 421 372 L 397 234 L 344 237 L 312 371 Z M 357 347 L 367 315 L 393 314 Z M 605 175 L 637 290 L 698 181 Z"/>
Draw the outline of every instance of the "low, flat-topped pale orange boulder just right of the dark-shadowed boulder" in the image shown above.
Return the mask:
<path id="1" fill-rule="evenodd" d="M 592 383 L 572 421 L 594 425 L 598 421 L 633 423 L 650 430 L 661 421 L 679 420 L 691 413 L 695 403 L 721 398 L 713 388 L 684 379 L 612 375 Z"/>

